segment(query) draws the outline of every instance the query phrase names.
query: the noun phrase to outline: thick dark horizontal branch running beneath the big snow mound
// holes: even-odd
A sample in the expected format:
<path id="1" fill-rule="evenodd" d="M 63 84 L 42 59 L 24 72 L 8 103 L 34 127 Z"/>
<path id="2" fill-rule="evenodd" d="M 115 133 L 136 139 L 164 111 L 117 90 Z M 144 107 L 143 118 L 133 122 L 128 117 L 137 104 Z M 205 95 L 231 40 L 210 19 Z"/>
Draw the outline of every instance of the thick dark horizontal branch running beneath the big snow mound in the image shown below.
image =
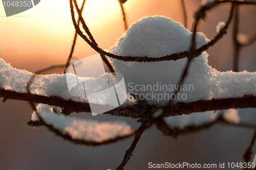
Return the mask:
<path id="1" fill-rule="evenodd" d="M 11 90 L 0 89 L 0 97 L 5 100 L 31 101 L 34 103 L 48 104 L 51 106 L 61 107 L 63 113 L 70 114 L 72 112 L 91 112 L 89 103 L 76 102 L 72 100 L 61 99 L 58 96 L 42 96 L 37 94 L 20 93 Z M 138 102 L 139 103 L 139 102 Z M 161 108 L 157 105 L 135 104 L 132 106 L 119 107 L 105 114 L 125 116 L 133 118 L 144 117 L 143 108 L 152 107 L 152 110 Z M 256 108 L 256 96 L 244 96 L 242 98 L 212 99 L 200 100 L 189 103 L 177 103 L 169 110 L 166 116 L 175 116 L 182 114 L 190 114 L 194 112 L 205 112 L 210 110 L 224 110 L 231 108 Z"/>

